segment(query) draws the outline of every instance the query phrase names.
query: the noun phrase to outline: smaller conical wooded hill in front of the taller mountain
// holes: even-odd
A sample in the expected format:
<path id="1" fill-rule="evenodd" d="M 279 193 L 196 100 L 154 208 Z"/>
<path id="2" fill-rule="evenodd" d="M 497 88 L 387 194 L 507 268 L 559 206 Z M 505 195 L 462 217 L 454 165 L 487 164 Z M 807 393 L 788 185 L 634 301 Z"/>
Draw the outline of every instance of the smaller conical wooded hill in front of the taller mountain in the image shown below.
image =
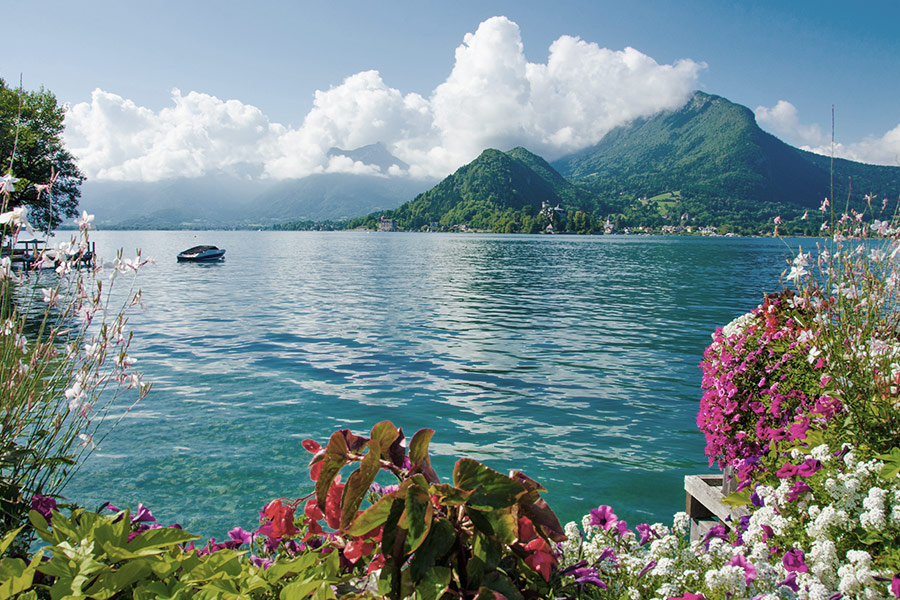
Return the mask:
<path id="1" fill-rule="evenodd" d="M 392 211 L 372 215 L 351 225 L 375 225 L 391 218 L 405 230 L 469 229 L 531 231 L 550 222 L 540 220 L 542 207 L 556 206 L 596 212 L 592 194 L 563 178 L 543 158 L 524 148 L 509 152 L 488 149 L 460 167 L 434 188 Z"/>

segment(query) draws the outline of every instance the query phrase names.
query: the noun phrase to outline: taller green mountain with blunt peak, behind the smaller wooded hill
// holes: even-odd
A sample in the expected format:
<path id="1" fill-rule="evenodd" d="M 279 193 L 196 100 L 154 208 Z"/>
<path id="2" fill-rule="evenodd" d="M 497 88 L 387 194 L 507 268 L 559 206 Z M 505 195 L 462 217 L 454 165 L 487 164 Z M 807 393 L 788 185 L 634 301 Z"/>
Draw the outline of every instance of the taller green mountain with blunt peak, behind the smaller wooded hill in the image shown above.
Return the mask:
<path id="1" fill-rule="evenodd" d="M 829 157 L 785 144 L 760 129 L 750 109 L 703 92 L 678 110 L 614 129 L 553 166 L 621 210 L 678 191 L 679 211 L 707 223 L 796 215 L 825 197 L 846 199 L 851 181 L 858 208 L 866 193 L 900 190 L 900 168 L 835 159 L 832 194 Z"/>

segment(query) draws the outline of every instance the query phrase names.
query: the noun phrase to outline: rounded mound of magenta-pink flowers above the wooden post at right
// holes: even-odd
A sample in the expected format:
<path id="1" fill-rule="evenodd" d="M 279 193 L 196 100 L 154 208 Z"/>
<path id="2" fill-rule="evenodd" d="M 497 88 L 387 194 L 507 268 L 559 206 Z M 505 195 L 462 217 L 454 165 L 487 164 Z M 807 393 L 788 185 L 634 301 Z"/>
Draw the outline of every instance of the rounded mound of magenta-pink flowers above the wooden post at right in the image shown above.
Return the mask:
<path id="1" fill-rule="evenodd" d="M 710 465 L 731 466 L 746 484 L 779 442 L 823 429 L 843 410 L 818 345 L 817 312 L 792 292 L 717 329 L 706 349 L 697 426 Z"/>

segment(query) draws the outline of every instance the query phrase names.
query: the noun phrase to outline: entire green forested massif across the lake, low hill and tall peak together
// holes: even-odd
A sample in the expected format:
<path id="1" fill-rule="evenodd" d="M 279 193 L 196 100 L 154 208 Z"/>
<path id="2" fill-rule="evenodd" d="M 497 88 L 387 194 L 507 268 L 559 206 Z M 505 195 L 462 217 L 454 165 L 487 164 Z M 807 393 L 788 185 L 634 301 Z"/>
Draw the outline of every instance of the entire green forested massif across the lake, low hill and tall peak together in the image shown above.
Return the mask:
<path id="1" fill-rule="evenodd" d="M 833 173 L 833 175 L 832 175 Z M 833 185 L 833 192 L 832 192 Z M 404 230 L 589 232 L 616 227 L 718 226 L 746 233 L 816 233 L 800 216 L 826 197 L 843 210 L 864 196 L 896 200 L 900 167 L 881 167 L 799 150 L 766 133 L 753 113 L 697 92 L 682 108 L 610 131 L 597 145 L 552 165 L 524 148 L 485 150 L 431 190 L 393 211 Z M 544 210 L 543 205 L 561 210 Z"/>

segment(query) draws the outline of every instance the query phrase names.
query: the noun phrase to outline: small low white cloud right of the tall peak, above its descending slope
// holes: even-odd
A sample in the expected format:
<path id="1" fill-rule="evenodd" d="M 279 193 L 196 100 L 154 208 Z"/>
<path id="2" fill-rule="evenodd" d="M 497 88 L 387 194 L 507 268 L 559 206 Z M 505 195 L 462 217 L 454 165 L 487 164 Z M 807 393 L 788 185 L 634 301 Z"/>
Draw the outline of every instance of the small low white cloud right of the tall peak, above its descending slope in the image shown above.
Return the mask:
<path id="1" fill-rule="evenodd" d="M 831 155 L 831 141 L 815 124 L 802 125 L 797 108 L 786 100 L 779 100 L 772 108 L 756 107 L 756 120 L 785 141 L 803 150 Z M 834 155 L 840 158 L 875 165 L 900 165 L 900 125 L 881 137 L 869 137 L 861 142 L 835 143 Z"/>

